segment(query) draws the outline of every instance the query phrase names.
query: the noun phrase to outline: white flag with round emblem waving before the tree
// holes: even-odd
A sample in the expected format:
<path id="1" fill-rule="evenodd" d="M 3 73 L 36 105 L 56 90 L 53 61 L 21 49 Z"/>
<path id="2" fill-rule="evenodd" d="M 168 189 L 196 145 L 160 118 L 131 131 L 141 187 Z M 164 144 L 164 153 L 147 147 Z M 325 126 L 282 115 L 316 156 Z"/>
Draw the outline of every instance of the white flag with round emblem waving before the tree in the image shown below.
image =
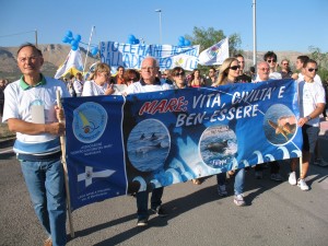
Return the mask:
<path id="1" fill-rule="evenodd" d="M 222 65 L 229 58 L 227 37 L 199 54 L 198 63 L 203 66 Z"/>

